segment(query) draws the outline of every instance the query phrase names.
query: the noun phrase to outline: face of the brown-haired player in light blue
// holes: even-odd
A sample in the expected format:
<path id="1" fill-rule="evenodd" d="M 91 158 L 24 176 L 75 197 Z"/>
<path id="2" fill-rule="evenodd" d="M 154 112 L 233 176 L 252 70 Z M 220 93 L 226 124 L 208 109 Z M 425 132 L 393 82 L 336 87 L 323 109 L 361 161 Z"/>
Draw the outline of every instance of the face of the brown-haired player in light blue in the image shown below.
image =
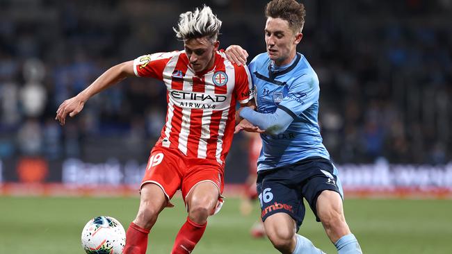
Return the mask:
<path id="1" fill-rule="evenodd" d="M 265 25 L 265 42 L 268 57 L 276 65 L 287 65 L 296 55 L 296 46 L 302 33 L 294 33 L 289 22 L 284 19 L 268 17 Z"/>

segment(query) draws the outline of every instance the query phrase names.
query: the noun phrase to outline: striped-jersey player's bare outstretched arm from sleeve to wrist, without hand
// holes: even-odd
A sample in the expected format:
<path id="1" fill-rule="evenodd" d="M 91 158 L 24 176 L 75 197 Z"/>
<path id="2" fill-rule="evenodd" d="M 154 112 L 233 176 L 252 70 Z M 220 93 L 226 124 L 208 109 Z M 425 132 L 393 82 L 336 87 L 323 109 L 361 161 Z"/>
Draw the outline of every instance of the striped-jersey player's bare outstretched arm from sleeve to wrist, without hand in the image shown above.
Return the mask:
<path id="1" fill-rule="evenodd" d="M 133 68 L 133 62 L 122 62 L 119 65 L 111 67 L 77 96 L 79 96 L 82 101 L 88 101 L 88 99 L 95 94 L 119 83 L 128 76 L 134 75 L 133 69 L 131 68 Z"/>

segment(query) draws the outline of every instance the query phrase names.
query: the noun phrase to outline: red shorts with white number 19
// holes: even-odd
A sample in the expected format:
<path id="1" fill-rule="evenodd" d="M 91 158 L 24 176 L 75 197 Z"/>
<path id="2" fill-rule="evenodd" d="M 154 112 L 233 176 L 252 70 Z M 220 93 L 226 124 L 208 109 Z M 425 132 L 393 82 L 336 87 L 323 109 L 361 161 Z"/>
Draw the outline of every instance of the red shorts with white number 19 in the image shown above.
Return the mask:
<path id="1" fill-rule="evenodd" d="M 159 185 L 168 198 L 174 196 L 178 189 L 186 203 L 186 197 L 198 183 L 211 182 L 218 188 L 220 196 L 216 212 L 223 205 L 224 168 L 216 160 L 188 158 L 178 149 L 155 146 L 147 162 L 145 176 L 140 189 L 147 183 Z M 168 206 L 172 207 L 171 203 Z"/>

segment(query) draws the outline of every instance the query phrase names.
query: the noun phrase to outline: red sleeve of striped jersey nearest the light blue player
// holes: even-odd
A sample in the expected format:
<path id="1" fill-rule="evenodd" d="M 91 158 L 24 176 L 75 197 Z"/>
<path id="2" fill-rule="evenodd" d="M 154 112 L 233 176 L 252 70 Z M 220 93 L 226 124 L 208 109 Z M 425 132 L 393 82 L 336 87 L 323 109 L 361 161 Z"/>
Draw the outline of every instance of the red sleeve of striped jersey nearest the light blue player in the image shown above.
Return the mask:
<path id="1" fill-rule="evenodd" d="M 252 85 L 250 71 L 246 66 L 237 66 L 235 68 L 235 87 L 234 93 L 236 94 L 237 101 L 244 104 L 248 103 L 251 99 L 255 97 L 255 89 Z"/>

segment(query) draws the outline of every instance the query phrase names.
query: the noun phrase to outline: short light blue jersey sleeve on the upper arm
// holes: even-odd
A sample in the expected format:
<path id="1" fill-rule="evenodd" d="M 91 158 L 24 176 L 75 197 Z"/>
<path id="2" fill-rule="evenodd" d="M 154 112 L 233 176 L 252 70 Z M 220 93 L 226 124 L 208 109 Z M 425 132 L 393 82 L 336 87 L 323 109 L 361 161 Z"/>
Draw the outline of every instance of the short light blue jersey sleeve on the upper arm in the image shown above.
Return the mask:
<path id="1" fill-rule="evenodd" d="M 288 88 L 287 96 L 282 99 L 278 108 L 286 111 L 294 119 L 318 101 L 320 87 L 315 72 L 302 74 Z"/>

